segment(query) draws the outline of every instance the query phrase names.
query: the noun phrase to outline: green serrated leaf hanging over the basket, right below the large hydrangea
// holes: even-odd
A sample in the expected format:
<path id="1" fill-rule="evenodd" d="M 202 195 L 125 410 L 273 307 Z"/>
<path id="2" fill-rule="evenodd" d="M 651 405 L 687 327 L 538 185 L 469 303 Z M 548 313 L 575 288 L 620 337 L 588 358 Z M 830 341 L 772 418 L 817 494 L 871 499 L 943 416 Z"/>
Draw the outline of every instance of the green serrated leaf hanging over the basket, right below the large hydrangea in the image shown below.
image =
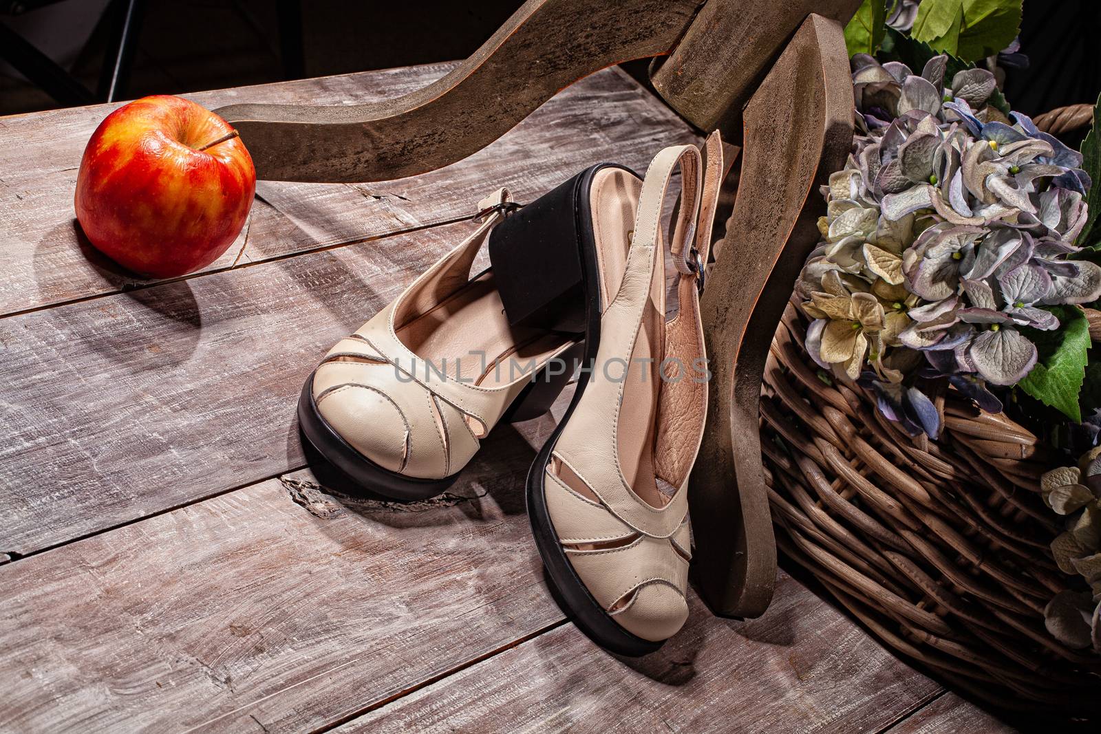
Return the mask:
<path id="1" fill-rule="evenodd" d="M 1086 352 L 1090 348 L 1089 322 L 1077 306 L 1047 306 L 1059 319 L 1055 331 L 1022 327 L 1021 332 L 1039 352 L 1033 368 L 1018 386 L 1044 405 L 1081 423 L 1078 393 L 1086 379 Z"/>

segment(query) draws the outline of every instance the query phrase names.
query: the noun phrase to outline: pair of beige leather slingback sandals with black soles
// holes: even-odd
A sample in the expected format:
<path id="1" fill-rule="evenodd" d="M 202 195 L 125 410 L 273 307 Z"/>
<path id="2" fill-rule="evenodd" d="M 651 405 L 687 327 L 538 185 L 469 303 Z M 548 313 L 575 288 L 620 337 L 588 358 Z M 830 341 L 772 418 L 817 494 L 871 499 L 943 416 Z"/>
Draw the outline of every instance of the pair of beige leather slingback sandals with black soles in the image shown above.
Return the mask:
<path id="1" fill-rule="evenodd" d="M 718 134 L 706 158 L 695 145 L 667 147 L 645 179 L 600 164 L 523 208 L 497 191 L 473 234 L 329 351 L 298 405 L 304 434 L 337 468 L 417 500 L 446 490 L 499 421 L 539 415 L 577 375 L 532 464 L 528 515 L 559 603 L 624 655 L 656 649 L 688 615 L 687 484 L 710 376 L 698 294 L 723 172 Z M 492 266 L 471 275 L 487 242 Z"/>

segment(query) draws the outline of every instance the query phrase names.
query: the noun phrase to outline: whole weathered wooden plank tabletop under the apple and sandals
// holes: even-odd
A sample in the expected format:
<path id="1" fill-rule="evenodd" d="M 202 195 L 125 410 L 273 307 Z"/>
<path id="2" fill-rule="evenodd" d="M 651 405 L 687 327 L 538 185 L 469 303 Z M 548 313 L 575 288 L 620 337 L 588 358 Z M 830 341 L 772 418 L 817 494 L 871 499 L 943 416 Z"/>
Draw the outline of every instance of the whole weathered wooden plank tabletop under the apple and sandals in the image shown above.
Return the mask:
<path id="1" fill-rule="evenodd" d="M 428 65 L 190 95 L 347 103 Z M 113 106 L 0 118 L 0 731 L 1009 731 L 781 571 L 759 620 L 630 660 L 550 600 L 502 427 L 448 494 L 349 496 L 294 418 L 320 355 L 472 229 L 481 196 L 644 169 L 689 128 L 619 69 L 440 171 L 260 182 L 204 272 L 134 280 L 81 242 L 85 142 Z"/>

